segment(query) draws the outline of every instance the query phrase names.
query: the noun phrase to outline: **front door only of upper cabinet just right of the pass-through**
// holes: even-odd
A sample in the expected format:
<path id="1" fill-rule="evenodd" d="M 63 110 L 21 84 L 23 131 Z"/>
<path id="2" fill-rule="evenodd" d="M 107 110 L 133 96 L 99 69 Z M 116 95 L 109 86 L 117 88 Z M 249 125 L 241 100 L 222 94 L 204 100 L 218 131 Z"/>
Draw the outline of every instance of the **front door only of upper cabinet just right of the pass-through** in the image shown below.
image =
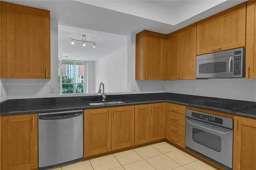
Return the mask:
<path id="1" fill-rule="evenodd" d="M 147 80 L 164 79 L 164 55 L 166 39 L 164 34 L 145 31 L 144 71 Z"/>

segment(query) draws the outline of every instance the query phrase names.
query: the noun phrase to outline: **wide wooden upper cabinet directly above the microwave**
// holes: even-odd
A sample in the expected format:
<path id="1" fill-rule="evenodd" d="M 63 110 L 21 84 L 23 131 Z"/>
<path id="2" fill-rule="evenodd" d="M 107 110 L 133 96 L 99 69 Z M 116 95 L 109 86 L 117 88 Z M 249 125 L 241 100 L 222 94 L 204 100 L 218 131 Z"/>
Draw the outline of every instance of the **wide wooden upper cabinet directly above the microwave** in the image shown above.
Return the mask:
<path id="1" fill-rule="evenodd" d="M 246 3 L 220 12 L 196 24 L 197 55 L 244 47 Z"/>

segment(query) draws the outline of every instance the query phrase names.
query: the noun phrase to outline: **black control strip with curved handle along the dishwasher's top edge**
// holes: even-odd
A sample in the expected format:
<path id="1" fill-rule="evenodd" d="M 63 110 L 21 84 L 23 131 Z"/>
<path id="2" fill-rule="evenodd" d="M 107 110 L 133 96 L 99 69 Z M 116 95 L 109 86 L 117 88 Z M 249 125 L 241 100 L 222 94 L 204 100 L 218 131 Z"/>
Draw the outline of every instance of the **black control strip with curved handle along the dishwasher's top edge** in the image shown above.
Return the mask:
<path id="1" fill-rule="evenodd" d="M 51 114 L 51 115 L 39 115 L 39 120 L 60 120 L 60 119 L 70 119 L 73 117 L 81 116 L 82 113 L 60 113 L 60 114 Z"/>

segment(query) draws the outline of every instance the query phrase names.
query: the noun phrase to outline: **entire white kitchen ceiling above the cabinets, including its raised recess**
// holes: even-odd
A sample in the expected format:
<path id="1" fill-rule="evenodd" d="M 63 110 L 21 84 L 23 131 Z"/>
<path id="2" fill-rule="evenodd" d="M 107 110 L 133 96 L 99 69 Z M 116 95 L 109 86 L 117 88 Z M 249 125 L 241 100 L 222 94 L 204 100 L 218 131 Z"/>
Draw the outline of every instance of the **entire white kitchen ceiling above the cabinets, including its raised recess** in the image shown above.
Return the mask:
<path id="1" fill-rule="evenodd" d="M 7 1 L 50 10 L 51 18 L 61 25 L 128 35 L 141 30 L 169 34 L 246 0 Z"/>

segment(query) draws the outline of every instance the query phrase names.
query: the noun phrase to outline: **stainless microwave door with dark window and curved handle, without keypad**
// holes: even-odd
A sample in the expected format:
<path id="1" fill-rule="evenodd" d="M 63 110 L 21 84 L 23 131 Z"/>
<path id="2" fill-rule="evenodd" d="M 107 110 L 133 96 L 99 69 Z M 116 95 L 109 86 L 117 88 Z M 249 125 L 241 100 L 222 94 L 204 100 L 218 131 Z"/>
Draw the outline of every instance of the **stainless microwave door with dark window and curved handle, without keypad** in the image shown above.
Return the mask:
<path id="1" fill-rule="evenodd" d="M 217 57 L 196 61 L 196 78 L 231 78 L 233 57 Z"/>

